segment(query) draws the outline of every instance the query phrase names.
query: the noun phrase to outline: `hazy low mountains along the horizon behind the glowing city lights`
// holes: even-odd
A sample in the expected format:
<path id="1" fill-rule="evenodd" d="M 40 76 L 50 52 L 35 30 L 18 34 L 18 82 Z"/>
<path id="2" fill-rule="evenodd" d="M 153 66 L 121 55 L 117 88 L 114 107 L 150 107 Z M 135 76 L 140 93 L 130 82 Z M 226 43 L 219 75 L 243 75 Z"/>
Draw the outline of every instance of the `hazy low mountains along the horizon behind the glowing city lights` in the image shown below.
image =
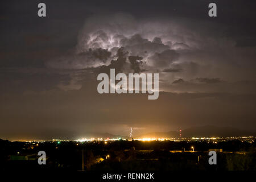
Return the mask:
<path id="1" fill-rule="evenodd" d="M 204 131 L 205 130 L 205 131 Z M 221 130 L 221 131 L 220 131 Z M 30 141 L 30 140 L 52 140 L 52 139 L 61 139 L 61 140 L 77 140 L 82 138 L 180 138 L 180 129 L 179 130 L 168 130 L 168 131 L 144 131 L 141 133 L 141 130 L 133 129 L 132 137 L 130 137 L 130 130 L 127 130 L 127 133 L 111 133 L 108 131 L 102 132 L 84 132 L 77 134 L 76 132 L 71 131 L 63 131 L 63 133 L 56 132 L 53 134 L 54 129 L 42 130 L 42 133 L 34 134 L 34 133 L 18 133 L 16 137 L 11 138 L 0 138 L 0 139 L 7 139 L 11 141 Z M 58 131 L 58 130 L 56 130 Z M 191 134 L 192 132 L 192 134 Z M 230 133 L 231 132 L 231 133 Z M 181 130 L 181 137 L 184 138 L 192 138 L 192 137 L 254 137 L 256 131 L 254 129 L 251 130 L 240 130 L 234 127 L 217 127 L 213 125 L 204 125 L 204 126 L 196 126 L 196 127 L 189 127 Z M 32 137 L 34 136 L 34 137 Z M 45 137 L 51 136 L 51 137 Z"/>

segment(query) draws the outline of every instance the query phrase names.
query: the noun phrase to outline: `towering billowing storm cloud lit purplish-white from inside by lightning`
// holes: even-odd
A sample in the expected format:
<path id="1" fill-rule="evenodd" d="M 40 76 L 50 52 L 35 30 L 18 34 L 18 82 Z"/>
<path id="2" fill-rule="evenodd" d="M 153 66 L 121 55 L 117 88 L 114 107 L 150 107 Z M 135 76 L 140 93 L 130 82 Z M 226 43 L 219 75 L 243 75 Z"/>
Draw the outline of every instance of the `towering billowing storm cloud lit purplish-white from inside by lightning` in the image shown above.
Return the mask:
<path id="1" fill-rule="evenodd" d="M 234 63 L 239 56 L 227 55 L 226 50 L 237 55 L 245 50 L 221 32 L 213 35 L 204 22 L 197 26 L 184 22 L 188 20 L 135 19 L 129 14 L 92 16 L 85 20 L 73 51 L 54 57 L 46 65 L 55 69 L 97 69 L 94 72 L 108 72 L 109 68 L 125 73 L 160 72 L 160 80 L 167 87 L 181 80 L 193 80 L 195 84 L 191 85 L 197 88 L 198 84 L 237 81 L 236 72 L 241 69 Z M 120 57 L 120 50 L 125 56 Z M 251 72 L 247 69 L 241 80 L 250 78 Z"/>

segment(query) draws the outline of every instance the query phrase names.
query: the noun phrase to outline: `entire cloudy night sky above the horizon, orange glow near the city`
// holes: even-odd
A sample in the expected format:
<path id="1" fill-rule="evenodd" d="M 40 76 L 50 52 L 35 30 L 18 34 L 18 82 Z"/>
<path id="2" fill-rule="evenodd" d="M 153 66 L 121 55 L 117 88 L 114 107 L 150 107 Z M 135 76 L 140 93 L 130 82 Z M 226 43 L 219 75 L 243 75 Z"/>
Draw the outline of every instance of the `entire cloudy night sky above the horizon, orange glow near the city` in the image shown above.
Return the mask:
<path id="1" fill-rule="evenodd" d="M 208 16 L 210 2 L 217 17 Z M 204 125 L 255 130 L 255 5 L 2 1 L 0 138 L 127 136 L 130 127 L 136 134 Z M 118 50 L 127 52 L 125 62 Z M 99 94 L 97 75 L 110 68 L 159 73 L 158 100 Z"/>

